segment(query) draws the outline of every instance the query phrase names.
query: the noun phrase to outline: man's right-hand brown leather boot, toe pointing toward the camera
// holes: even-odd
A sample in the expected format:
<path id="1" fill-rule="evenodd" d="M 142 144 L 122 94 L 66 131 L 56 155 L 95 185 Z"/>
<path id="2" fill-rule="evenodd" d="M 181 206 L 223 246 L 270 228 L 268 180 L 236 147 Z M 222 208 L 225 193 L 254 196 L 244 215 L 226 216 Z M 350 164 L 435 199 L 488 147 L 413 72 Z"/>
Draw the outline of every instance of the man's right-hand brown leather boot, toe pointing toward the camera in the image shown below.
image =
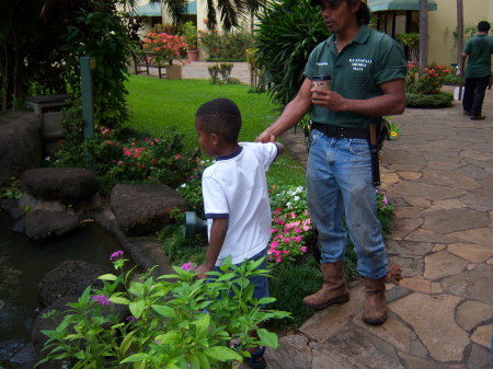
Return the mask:
<path id="1" fill-rule="evenodd" d="M 364 278 L 365 308 L 363 321 L 371 325 L 383 324 L 387 320 L 386 282 L 385 278 Z"/>

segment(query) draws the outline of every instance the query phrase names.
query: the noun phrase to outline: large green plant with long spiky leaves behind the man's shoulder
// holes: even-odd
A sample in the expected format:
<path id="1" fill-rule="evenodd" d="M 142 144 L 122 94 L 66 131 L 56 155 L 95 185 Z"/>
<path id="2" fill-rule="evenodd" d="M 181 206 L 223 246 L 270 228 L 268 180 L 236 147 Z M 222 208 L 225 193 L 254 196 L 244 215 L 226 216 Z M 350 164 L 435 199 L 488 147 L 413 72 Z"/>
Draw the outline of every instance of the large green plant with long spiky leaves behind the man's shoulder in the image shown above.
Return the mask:
<path id="1" fill-rule="evenodd" d="M 320 9 L 310 1 L 270 1 L 259 14 L 255 65 L 260 84 L 268 87 L 272 101 L 287 105 L 298 93 L 312 49 L 330 36 Z"/>

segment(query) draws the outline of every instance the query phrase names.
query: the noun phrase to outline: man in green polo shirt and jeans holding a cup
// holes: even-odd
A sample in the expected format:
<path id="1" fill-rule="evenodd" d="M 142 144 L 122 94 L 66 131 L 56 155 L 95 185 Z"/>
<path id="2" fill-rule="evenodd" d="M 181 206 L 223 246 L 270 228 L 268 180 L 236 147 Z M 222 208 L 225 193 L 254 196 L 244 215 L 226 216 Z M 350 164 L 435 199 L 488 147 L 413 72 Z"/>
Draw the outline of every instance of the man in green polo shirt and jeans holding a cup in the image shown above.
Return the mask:
<path id="1" fill-rule="evenodd" d="M 377 219 L 371 175 L 369 125 L 383 115 L 402 114 L 405 106 L 405 58 L 389 36 L 367 26 L 370 14 L 360 0 L 311 0 L 333 34 L 310 54 L 305 81 L 280 117 L 257 141 L 267 142 L 294 127 L 307 113 L 312 120 L 307 164 L 308 211 L 319 233 L 322 288 L 303 303 L 321 310 L 349 300 L 344 280 L 347 235 L 364 277 L 363 320 L 387 320 L 386 247 Z M 316 76 L 331 78 L 330 90 L 312 88 Z"/>

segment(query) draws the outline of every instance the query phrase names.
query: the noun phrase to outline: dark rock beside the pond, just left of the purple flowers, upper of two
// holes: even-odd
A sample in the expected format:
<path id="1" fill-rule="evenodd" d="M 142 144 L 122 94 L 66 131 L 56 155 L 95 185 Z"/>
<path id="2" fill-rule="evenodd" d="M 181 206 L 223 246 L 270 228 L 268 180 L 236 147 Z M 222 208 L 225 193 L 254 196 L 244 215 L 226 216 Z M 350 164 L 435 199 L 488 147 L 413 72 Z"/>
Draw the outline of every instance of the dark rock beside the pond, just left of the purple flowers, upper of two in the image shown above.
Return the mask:
<path id="1" fill-rule="evenodd" d="M 81 296 L 88 286 L 102 288 L 103 282 L 98 277 L 106 273 L 113 273 L 112 268 L 82 261 L 64 262 L 45 274 L 39 282 L 39 303 L 49 307 L 61 297 Z"/>

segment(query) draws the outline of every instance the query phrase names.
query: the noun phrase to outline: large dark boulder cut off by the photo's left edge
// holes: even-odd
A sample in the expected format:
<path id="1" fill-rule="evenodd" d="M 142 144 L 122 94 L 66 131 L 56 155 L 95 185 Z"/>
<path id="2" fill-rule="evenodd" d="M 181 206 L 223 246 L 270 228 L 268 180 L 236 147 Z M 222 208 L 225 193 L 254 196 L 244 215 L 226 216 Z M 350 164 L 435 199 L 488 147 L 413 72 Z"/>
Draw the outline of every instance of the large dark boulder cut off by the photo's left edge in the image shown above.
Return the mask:
<path id="1" fill-rule="evenodd" d="M 0 185 L 43 162 L 43 122 L 28 112 L 0 113 Z"/>

